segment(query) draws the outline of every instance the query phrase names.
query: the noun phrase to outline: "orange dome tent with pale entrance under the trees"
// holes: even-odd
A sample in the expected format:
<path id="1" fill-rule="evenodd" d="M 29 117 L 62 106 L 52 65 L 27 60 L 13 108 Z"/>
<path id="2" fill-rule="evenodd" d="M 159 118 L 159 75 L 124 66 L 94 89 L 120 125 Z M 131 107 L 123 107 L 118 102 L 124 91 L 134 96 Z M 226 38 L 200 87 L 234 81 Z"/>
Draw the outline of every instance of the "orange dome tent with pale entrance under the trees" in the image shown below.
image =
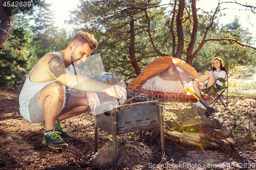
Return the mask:
<path id="1" fill-rule="evenodd" d="M 184 84 L 197 79 L 198 72 L 185 61 L 174 57 L 159 57 L 129 83 L 131 91 L 149 94 L 158 99 L 195 99 L 187 95 Z"/>

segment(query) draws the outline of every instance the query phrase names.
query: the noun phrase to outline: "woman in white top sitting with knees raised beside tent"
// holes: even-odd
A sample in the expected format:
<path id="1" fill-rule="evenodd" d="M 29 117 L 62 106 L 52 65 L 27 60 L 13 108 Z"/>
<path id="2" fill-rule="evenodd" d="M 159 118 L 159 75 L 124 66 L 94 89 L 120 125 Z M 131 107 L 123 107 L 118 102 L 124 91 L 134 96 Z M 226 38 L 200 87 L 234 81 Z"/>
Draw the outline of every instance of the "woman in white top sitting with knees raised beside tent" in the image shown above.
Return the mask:
<path id="1" fill-rule="evenodd" d="M 214 86 L 215 88 L 219 89 L 223 83 L 220 82 L 219 78 L 225 79 L 226 77 L 226 71 L 223 68 L 223 61 L 221 58 L 216 57 L 212 60 L 212 69 L 210 71 L 205 71 L 203 76 L 200 76 L 198 80 L 193 81 L 193 86 L 195 92 L 200 96 L 200 90 L 208 88 L 210 86 Z M 199 82 L 204 82 L 208 80 L 206 85 L 200 84 Z M 217 80 L 217 81 L 216 81 Z M 215 83 L 216 81 L 216 83 Z M 201 103 L 200 103 L 201 104 Z M 201 107 L 199 103 L 197 103 L 197 106 Z"/>

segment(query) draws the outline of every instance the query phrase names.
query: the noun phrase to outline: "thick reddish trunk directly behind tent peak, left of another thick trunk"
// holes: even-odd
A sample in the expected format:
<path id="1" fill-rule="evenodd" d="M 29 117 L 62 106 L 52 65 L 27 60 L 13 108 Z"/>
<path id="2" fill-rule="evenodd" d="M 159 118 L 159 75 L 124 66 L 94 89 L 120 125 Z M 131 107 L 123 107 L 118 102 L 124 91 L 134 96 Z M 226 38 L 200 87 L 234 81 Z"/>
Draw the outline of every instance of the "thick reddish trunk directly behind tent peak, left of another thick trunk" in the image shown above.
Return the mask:
<path id="1" fill-rule="evenodd" d="M 177 14 L 177 36 L 178 36 L 178 48 L 175 54 L 176 58 L 181 59 L 181 55 L 183 54 L 183 47 L 184 47 L 184 35 L 183 35 L 183 28 L 182 28 L 182 18 L 183 12 L 185 8 L 185 0 L 179 0 L 179 11 Z"/>

